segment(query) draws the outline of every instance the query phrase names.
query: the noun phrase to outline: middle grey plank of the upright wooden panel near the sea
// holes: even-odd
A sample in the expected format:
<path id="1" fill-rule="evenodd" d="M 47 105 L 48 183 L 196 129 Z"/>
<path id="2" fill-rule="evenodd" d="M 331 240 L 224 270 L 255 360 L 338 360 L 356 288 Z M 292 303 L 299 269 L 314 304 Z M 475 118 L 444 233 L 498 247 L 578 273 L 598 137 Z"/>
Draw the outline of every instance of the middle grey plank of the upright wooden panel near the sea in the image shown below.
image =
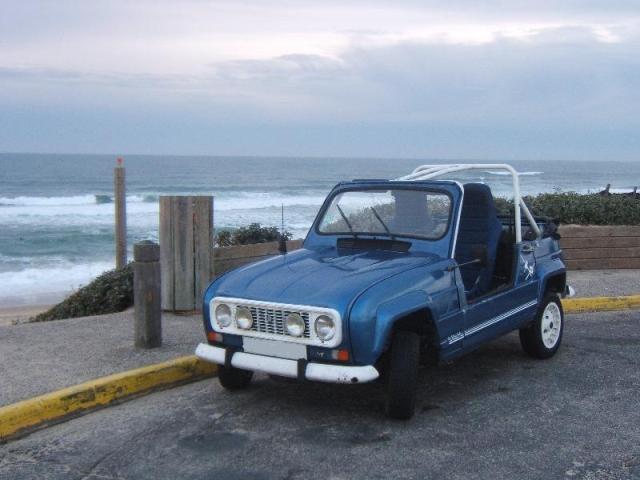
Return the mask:
<path id="1" fill-rule="evenodd" d="M 193 202 L 190 197 L 176 197 L 173 207 L 174 309 L 194 310 Z"/>

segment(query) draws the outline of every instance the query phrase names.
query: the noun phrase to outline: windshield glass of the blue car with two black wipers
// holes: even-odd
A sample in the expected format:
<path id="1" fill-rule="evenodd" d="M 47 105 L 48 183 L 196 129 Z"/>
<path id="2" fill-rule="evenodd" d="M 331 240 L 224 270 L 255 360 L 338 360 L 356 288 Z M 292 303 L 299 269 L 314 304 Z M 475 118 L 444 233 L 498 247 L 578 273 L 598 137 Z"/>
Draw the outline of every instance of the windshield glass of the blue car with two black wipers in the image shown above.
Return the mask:
<path id="1" fill-rule="evenodd" d="M 318 224 L 321 234 L 406 236 L 435 240 L 449 226 L 451 198 L 407 189 L 349 190 L 337 194 Z"/>

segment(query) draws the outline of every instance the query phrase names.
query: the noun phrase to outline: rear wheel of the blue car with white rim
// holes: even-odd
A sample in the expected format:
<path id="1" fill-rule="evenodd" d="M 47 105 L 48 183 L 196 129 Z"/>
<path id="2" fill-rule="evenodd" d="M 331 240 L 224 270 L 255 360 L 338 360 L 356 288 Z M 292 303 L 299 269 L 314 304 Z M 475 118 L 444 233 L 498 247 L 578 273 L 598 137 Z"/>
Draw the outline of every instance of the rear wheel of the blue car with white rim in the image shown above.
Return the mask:
<path id="1" fill-rule="evenodd" d="M 559 315 L 560 325 L 557 321 Z M 564 331 L 564 311 L 557 294 L 548 294 L 536 312 L 533 322 L 520 329 L 520 345 L 531 357 L 551 358 L 560 348 Z"/>

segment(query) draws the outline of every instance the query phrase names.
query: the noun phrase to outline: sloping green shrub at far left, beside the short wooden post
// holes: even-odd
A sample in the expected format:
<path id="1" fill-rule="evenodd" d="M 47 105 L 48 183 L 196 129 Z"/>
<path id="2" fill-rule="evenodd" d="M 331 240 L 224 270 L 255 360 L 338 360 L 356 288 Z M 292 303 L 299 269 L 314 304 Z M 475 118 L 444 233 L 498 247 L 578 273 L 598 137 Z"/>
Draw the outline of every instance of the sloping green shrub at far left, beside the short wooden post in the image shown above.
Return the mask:
<path id="1" fill-rule="evenodd" d="M 103 273 L 66 300 L 32 319 L 34 322 L 102 315 L 133 305 L 133 266 Z"/>

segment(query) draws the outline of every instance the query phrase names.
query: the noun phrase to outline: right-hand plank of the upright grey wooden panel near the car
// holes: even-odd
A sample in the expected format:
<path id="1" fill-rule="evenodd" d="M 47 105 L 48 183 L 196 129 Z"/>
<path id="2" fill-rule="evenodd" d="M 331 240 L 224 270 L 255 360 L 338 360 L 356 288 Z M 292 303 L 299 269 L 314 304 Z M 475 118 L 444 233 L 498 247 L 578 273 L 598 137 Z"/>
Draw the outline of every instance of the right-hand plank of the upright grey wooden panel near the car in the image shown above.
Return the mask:
<path id="1" fill-rule="evenodd" d="M 213 278 L 213 197 L 193 198 L 194 305 L 202 306 L 202 296 Z"/>

